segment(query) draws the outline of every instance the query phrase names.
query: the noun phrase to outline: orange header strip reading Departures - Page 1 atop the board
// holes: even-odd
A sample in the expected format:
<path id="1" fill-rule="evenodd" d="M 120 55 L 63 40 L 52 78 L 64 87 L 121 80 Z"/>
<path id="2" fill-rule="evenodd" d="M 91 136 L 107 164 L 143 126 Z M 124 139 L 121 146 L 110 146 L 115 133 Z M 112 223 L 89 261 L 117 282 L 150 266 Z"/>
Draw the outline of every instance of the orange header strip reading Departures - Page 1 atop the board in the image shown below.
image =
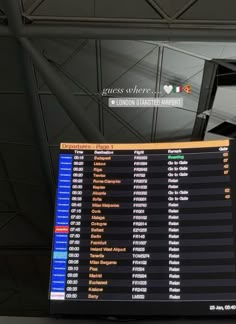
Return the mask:
<path id="1" fill-rule="evenodd" d="M 165 150 L 229 146 L 229 140 L 204 142 L 178 143 L 131 143 L 131 144 L 104 144 L 104 143 L 61 143 L 61 150 Z"/>

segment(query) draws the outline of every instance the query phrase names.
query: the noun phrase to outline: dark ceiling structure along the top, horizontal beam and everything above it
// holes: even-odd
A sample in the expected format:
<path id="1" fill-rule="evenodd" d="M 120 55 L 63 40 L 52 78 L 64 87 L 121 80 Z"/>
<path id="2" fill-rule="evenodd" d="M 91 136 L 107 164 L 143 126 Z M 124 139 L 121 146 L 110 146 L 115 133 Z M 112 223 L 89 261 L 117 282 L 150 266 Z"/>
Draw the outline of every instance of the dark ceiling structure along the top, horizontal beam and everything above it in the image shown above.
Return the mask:
<path id="1" fill-rule="evenodd" d="M 233 0 L 23 0 L 21 17 L 25 24 L 17 33 L 25 37 L 235 39 Z M 1 26 L 0 34 L 12 33 Z"/>

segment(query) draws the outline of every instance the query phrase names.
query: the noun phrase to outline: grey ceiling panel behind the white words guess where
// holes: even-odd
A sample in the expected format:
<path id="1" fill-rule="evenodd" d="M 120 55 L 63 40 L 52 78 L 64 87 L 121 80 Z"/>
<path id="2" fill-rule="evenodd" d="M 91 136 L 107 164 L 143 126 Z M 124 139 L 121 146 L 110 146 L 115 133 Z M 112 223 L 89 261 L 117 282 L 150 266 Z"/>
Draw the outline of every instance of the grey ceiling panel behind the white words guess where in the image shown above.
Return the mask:
<path id="1" fill-rule="evenodd" d="M 110 97 L 155 97 L 158 45 L 135 41 L 102 42 L 102 81 Z M 134 88 L 149 89 L 150 94 L 132 93 Z M 109 94 L 108 89 L 120 89 L 122 94 Z M 129 90 L 130 89 L 130 90 Z M 107 98 L 104 98 L 107 104 Z M 108 108 L 110 109 L 110 108 Z M 109 141 L 149 141 L 152 132 L 153 109 L 113 108 L 117 114 L 141 136 L 134 135 L 108 112 L 104 113 L 105 137 Z"/>

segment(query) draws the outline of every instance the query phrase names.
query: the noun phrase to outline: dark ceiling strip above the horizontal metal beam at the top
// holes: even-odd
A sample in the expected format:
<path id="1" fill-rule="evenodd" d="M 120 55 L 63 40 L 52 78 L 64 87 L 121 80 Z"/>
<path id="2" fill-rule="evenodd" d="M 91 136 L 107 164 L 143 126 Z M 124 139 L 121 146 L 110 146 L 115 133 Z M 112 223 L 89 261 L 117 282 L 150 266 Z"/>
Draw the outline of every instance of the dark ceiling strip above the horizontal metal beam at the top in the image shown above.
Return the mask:
<path id="1" fill-rule="evenodd" d="M 184 23 L 235 21 L 235 2 L 214 0 L 23 0 L 23 10 L 35 22 L 62 17 L 180 20 Z M 61 18 L 60 18 L 61 17 Z"/>

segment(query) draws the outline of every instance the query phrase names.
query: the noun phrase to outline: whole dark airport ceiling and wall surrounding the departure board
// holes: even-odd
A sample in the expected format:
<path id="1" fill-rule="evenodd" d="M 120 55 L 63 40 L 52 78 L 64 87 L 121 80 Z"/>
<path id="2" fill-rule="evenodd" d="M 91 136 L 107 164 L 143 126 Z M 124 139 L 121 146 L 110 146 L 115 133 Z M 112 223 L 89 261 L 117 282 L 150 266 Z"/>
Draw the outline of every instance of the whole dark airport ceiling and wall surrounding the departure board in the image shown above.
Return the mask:
<path id="1" fill-rule="evenodd" d="M 203 139 L 209 127 L 235 122 L 235 87 L 223 82 L 212 97 L 218 64 L 235 75 L 234 7 L 235 0 L 0 0 L 0 315 L 48 313 L 60 142 L 91 141 L 87 123 L 107 142 L 163 142 Z M 104 88 L 158 92 L 166 84 L 191 84 L 183 108 L 111 109 L 101 96 Z"/>

